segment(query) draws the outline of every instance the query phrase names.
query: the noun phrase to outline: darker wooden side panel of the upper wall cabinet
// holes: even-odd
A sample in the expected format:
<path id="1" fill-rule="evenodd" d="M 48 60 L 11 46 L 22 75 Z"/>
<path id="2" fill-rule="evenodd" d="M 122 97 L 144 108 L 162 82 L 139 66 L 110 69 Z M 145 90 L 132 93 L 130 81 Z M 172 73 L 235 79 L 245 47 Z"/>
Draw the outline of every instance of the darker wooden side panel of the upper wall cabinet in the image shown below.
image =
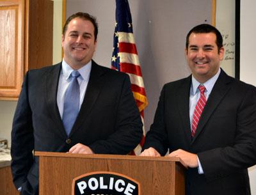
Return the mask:
<path id="1" fill-rule="evenodd" d="M 25 72 L 52 65 L 53 1 L 27 1 Z"/>

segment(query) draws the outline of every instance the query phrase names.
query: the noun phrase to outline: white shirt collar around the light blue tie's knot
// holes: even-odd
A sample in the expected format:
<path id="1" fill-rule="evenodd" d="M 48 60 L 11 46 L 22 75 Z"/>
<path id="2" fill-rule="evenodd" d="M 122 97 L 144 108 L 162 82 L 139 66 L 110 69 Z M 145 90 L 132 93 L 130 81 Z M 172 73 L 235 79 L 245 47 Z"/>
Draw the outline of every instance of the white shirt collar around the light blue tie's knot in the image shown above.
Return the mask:
<path id="1" fill-rule="evenodd" d="M 71 68 L 71 66 L 68 65 L 68 63 L 63 59 L 62 64 L 61 64 L 61 72 L 62 72 L 65 80 L 68 80 L 68 78 L 73 70 L 74 69 Z M 89 77 L 90 77 L 91 70 L 92 70 L 92 60 L 90 60 L 82 68 L 79 68 L 77 71 L 79 72 L 82 80 L 88 81 Z"/>

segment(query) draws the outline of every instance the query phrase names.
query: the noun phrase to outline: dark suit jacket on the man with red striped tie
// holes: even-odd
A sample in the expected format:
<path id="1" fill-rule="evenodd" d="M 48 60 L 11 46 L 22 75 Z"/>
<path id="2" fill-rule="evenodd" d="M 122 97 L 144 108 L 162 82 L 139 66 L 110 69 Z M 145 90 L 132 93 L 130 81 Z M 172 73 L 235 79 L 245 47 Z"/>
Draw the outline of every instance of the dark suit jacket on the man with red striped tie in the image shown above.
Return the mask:
<path id="1" fill-rule="evenodd" d="M 196 153 L 204 169 L 186 171 L 186 194 L 250 194 L 247 168 L 256 163 L 256 90 L 221 70 L 191 138 L 191 76 L 165 84 L 143 149 L 161 155 L 183 149 Z"/>

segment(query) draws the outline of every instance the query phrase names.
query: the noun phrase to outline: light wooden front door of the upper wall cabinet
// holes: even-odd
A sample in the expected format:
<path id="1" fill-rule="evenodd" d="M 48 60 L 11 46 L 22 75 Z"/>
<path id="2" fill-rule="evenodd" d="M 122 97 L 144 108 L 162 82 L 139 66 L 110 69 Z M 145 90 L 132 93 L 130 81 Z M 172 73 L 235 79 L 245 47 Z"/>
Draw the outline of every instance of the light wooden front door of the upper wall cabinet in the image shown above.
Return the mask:
<path id="1" fill-rule="evenodd" d="M 19 97 L 24 77 L 24 0 L 0 1 L 0 100 Z"/>

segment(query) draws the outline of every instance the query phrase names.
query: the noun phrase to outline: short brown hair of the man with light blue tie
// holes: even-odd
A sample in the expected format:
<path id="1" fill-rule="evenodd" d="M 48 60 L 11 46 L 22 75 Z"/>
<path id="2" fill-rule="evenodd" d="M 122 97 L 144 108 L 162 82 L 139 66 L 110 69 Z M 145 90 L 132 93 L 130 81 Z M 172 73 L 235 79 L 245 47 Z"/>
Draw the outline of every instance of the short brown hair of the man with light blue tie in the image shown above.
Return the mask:
<path id="1" fill-rule="evenodd" d="M 97 19 L 95 17 L 93 17 L 92 15 L 90 15 L 89 13 L 85 13 L 85 12 L 77 12 L 77 13 L 74 13 L 73 15 L 70 15 L 70 17 L 68 17 L 68 19 L 66 20 L 66 22 L 63 26 L 62 35 L 65 36 L 68 24 L 70 23 L 71 20 L 76 19 L 76 18 L 80 18 L 83 20 L 89 20 L 90 22 L 92 22 L 92 24 L 94 26 L 94 37 L 95 37 L 95 40 L 97 40 L 97 35 L 98 35 Z"/>

